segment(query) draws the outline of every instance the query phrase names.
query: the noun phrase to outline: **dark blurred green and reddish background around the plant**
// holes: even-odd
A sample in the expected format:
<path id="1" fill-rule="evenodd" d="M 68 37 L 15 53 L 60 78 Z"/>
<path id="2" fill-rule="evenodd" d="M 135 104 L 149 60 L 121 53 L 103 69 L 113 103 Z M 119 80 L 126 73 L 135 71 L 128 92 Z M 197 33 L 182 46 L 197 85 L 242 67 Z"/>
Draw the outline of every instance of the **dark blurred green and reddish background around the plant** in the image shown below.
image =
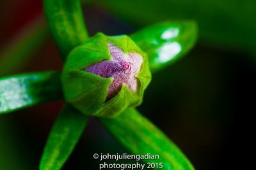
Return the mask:
<path id="1" fill-rule="evenodd" d="M 195 48 L 154 74 L 138 109 L 180 147 L 196 169 L 252 169 L 248 152 L 253 153 L 255 136 L 256 1 L 95 0 L 84 1 L 83 8 L 90 35 L 99 31 L 129 34 L 163 20 L 196 20 Z M 44 24 L 42 0 L 0 1 L 0 21 L 1 76 L 61 70 L 58 51 Z M 26 34 L 35 32 L 40 34 L 26 45 Z M 26 45 L 23 53 L 12 53 L 16 41 Z M 3 64 L 9 59 L 13 67 Z M 1 170 L 38 169 L 62 105 L 59 101 L 1 115 Z M 93 153 L 107 152 L 127 150 L 92 119 L 63 169 L 97 169 Z"/>

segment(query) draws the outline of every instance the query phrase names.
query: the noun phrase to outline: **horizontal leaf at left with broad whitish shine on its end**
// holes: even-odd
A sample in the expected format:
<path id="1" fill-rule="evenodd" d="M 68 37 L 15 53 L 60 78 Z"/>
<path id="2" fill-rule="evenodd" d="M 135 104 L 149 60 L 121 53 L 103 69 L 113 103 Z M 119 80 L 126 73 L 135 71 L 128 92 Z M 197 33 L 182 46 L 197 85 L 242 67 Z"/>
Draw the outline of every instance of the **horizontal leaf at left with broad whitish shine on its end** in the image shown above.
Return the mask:
<path id="1" fill-rule="evenodd" d="M 19 74 L 0 78 L 0 114 L 63 99 L 60 72 Z"/>

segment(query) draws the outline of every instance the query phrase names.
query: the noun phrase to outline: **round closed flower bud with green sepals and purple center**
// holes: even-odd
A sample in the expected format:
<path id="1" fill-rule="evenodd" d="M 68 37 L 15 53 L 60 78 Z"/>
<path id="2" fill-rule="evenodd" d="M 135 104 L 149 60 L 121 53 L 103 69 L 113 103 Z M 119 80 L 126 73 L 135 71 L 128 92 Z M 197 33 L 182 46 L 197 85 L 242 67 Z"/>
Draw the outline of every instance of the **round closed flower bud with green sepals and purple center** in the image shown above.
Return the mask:
<path id="1" fill-rule="evenodd" d="M 96 34 L 68 55 L 65 99 L 86 115 L 115 117 L 138 106 L 151 80 L 146 53 L 128 36 Z"/>

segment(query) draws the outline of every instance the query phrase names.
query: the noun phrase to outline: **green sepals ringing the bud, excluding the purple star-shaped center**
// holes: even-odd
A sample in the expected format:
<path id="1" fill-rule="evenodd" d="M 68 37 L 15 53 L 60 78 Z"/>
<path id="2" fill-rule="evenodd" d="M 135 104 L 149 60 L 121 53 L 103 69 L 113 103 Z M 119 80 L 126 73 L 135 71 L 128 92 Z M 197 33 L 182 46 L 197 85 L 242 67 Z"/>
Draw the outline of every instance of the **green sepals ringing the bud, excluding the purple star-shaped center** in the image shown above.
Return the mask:
<path id="1" fill-rule="evenodd" d="M 102 78 L 85 69 L 102 60 L 112 59 L 108 43 L 113 43 L 125 53 L 140 54 L 143 57 L 143 64 L 140 73 L 136 75 L 140 81 L 138 92 L 134 93 L 123 85 L 115 97 L 106 101 L 108 87 L 113 78 Z M 65 99 L 77 110 L 87 115 L 116 117 L 128 106 L 141 104 L 143 92 L 151 80 L 151 74 L 147 55 L 128 36 L 106 36 L 98 33 L 70 52 L 61 80 Z"/>

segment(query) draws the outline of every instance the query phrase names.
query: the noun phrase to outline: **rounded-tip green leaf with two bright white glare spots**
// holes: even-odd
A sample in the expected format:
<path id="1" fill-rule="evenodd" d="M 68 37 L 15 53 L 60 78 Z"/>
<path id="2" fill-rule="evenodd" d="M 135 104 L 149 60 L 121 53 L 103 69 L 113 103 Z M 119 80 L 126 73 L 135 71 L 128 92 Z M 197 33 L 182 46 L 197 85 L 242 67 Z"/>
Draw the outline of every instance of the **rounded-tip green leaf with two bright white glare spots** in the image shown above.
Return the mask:
<path id="1" fill-rule="evenodd" d="M 150 25 L 131 35 L 148 54 L 150 71 L 168 66 L 195 45 L 197 27 L 193 21 L 163 22 Z"/>

